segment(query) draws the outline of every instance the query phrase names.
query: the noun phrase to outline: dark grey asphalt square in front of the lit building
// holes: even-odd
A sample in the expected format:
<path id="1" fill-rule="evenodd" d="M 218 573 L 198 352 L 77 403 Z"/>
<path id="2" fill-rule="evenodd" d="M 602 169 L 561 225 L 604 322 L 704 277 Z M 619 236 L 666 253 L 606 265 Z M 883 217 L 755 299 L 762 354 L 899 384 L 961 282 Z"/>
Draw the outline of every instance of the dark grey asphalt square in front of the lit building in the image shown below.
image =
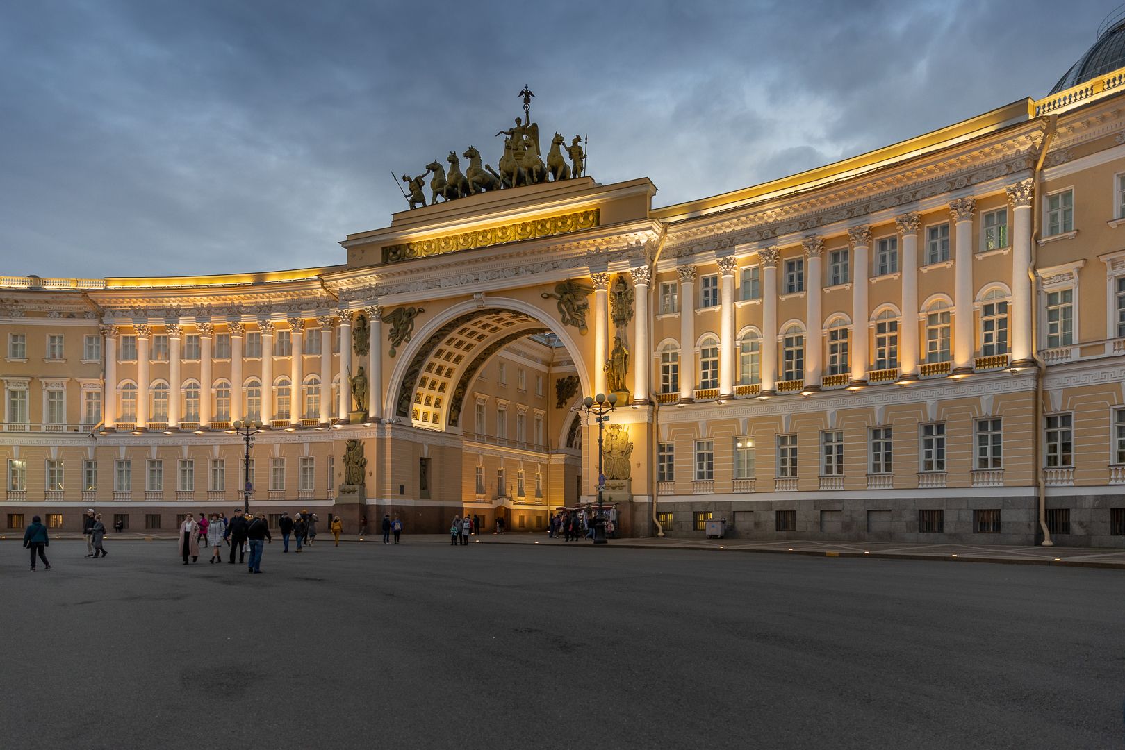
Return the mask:
<path id="1" fill-rule="evenodd" d="M 0 542 L 0 747 L 1125 747 L 1120 571 L 588 544 Z"/>

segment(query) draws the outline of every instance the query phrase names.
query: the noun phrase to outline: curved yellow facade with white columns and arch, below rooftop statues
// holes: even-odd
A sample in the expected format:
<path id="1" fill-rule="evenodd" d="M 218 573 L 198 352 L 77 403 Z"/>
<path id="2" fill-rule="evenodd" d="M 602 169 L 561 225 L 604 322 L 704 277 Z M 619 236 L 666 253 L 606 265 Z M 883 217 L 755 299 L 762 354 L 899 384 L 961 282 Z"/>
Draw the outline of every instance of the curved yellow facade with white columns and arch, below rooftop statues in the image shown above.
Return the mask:
<path id="1" fill-rule="evenodd" d="M 1125 70 L 1080 73 L 676 206 L 576 178 L 396 214 L 335 266 L 2 277 L 0 521 L 230 512 L 254 421 L 270 514 L 541 531 L 595 499 L 579 406 L 614 390 L 623 534 L 1125 545 Z"/>

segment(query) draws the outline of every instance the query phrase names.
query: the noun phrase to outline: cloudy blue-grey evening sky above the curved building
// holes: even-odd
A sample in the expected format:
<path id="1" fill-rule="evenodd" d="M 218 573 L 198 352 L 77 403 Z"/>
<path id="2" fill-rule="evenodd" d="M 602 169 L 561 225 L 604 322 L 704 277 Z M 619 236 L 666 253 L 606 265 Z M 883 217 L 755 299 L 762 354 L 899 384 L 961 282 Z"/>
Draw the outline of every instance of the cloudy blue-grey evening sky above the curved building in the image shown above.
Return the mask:
<path id="1" fill-rule="evenodd" d="M 525 83 L 600 182 L 723 192 L 1041 97 L 1114 4 L 6 2 L 0 273 L 340 263 Z"/>

